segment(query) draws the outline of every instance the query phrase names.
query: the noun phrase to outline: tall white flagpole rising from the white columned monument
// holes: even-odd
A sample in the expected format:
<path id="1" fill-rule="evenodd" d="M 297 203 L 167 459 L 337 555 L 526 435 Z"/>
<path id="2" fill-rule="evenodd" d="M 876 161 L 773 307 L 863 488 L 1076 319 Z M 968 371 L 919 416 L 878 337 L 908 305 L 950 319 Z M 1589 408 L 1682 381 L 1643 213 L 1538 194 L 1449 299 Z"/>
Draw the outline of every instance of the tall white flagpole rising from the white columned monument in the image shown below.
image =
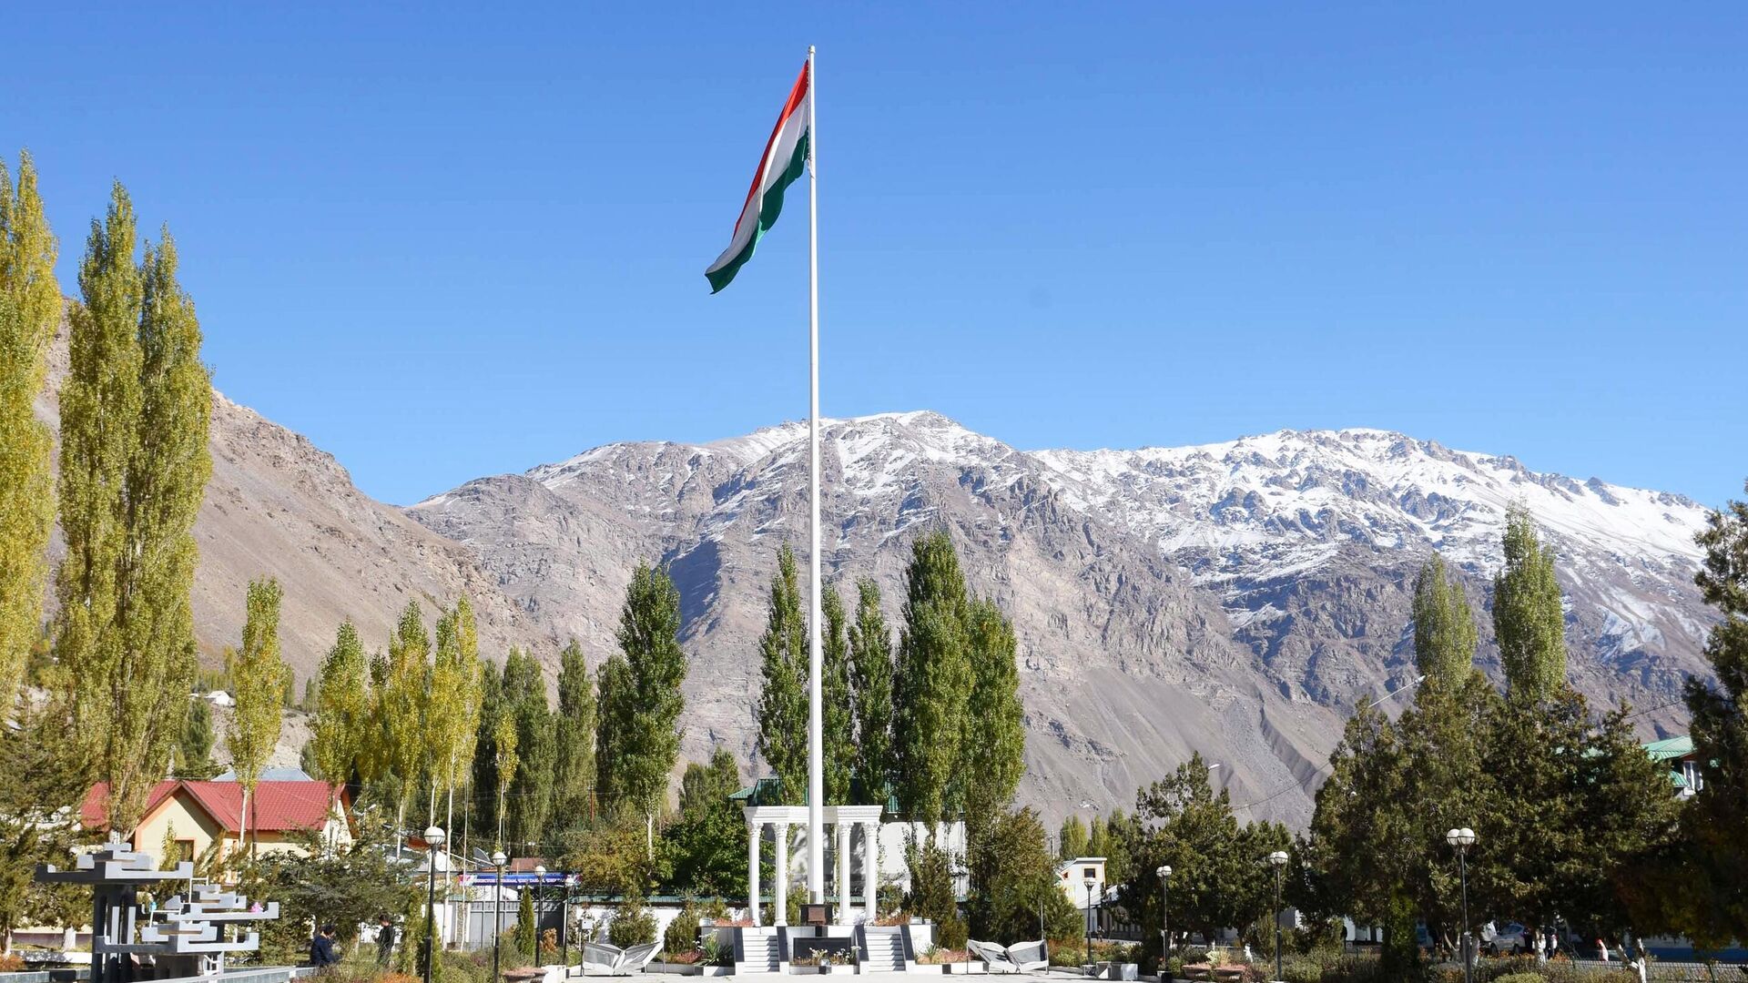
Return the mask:
<path id="1" fill-rule="evenodd" d="M 820 131 L 813 107 L 820 89 L 813 77 L 813 45 L 808 45 L 808 901 L 825 903 L 825 770 L 820 724 Z"/>

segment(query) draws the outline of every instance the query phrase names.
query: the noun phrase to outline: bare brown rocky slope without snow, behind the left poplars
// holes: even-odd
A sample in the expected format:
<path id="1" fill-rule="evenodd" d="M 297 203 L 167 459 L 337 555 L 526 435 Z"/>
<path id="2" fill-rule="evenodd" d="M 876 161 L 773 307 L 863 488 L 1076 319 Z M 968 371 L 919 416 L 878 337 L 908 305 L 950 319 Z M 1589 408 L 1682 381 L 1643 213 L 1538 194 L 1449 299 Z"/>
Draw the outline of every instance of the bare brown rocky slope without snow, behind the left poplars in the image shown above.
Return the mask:
<path id="1" fill-rule="evenodd" d="M 49 353 L 49 388 L 37 402 L 37 416 L 51 427 L 59 420 L 65 376 L 63 322 Z M 510 642 L 551 638 L 496 589 L 468 549 L 358 492 L 346 469 L 306 437 L 218 392 L 212 457 L 194 526 L 201 551 L 194 630 L 208 665 L 220 665 L 224 647 L 241 642 L 245 589 L 266 575 L 285 586 L 281 647 L 299 677 L 315 672 L 341 619 L 351 617 L 365 645 L 379 649 L 407 600 L 435 619 L 435 609 L 463 591 L 479 614 L 482 647 L 502 652 Z M 59 533 L 51 549 L 58 560 Z M 295 763 L 295 749 L 290 754 Z"/>

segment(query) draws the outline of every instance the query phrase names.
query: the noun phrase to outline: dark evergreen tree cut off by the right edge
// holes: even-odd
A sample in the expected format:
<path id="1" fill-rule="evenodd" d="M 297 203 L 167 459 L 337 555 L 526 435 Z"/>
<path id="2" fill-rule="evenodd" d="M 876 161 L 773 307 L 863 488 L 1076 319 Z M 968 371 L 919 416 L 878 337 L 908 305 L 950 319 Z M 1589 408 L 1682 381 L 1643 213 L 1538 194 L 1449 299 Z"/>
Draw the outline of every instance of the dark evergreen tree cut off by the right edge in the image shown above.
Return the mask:
<path id="1" fill-rule="evenodd" d="M 1748 938 L 1748 502 L 1713 512 L 1699 546 L 1706 558 L 1694 582 L 1724 619 L 1706 638 L 1717 682 L 1687 680 L 1704 785 L 1682 815 L 1676 897 L 1685 910 L 1682 931 L 1722 946 Z"/>

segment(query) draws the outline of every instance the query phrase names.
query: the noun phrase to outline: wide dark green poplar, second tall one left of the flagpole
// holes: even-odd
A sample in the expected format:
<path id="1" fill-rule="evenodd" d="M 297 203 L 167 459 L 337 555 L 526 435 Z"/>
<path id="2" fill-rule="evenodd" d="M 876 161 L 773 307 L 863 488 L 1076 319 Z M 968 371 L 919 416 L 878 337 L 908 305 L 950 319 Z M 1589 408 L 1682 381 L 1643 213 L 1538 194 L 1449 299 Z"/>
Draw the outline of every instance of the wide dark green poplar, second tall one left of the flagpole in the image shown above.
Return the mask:
<path id="1" fill-rule="evenodd" d="M 619 652 L 601 666 L 601 740 L 598 759 L 610 803 L 645 817 L 645 845 L 654 852 L 656 813 L 668 773 L 680 756 L 685 652 L 680 649 L 680 591 L 666 570 L 638 563 L 619 616 Z"/>

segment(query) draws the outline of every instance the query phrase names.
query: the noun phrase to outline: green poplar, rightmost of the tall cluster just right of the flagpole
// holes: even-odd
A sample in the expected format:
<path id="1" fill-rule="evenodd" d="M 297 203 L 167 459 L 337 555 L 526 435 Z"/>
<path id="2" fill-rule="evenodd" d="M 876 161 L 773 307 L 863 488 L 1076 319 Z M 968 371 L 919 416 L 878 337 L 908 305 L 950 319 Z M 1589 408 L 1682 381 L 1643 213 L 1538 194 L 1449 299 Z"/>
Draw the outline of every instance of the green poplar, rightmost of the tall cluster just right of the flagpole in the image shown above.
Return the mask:
<path id="1" fill-rule="evenodd" d="M 1026 710 L 1019 701 L 1014 624 L 989 598 L 967 609 L 975 728 L 965 729 L 961 759 L 972 775 L 967 789 L 970 817 L 1007 810 L 1026 773 Z"/>

